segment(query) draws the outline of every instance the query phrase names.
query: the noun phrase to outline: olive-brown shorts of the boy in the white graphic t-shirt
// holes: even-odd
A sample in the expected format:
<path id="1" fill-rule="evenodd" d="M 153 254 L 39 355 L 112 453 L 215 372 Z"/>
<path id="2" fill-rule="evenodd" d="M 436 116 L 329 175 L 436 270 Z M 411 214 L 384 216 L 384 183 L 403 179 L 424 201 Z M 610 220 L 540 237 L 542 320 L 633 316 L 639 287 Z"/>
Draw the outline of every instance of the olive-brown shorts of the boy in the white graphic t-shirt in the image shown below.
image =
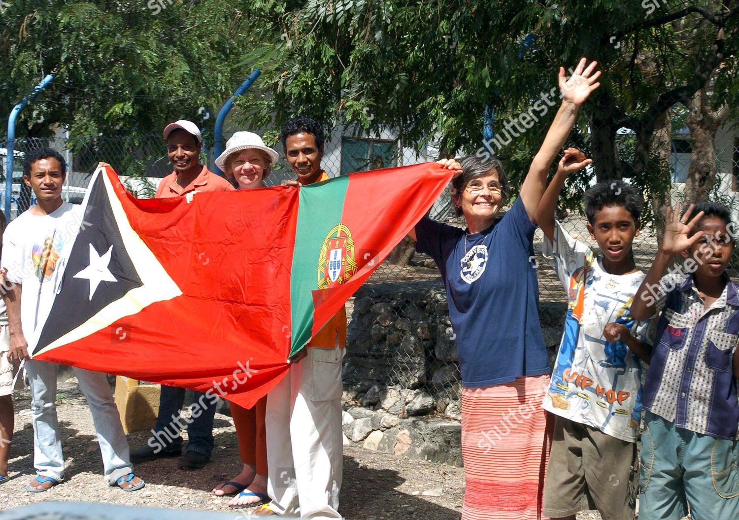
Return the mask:
<path id="1" fill-rule="evenodd" d="M 559 518 L 597 509 L 603 520 L 633 520 L 637 460 L 636 442 L 556 416 L 543 513 Z"/>

